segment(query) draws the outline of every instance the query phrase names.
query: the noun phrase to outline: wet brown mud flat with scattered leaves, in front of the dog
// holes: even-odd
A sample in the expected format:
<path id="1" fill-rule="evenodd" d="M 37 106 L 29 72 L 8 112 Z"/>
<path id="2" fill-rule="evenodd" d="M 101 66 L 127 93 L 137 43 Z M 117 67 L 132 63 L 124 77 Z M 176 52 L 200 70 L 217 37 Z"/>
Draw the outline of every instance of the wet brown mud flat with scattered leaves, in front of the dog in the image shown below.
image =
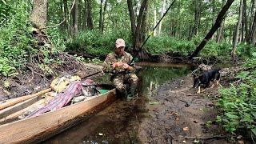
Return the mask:
<path id="1" fill-rule="evenodd" d="M 195 94 L 192 78 L 166 82 L 150 99 L 159 102 L 148 106 L 150 118 L 139 127 L 142 143 L 230 143 L 221 126 L 215 122 L 214 96 L 218 87 Z"/>

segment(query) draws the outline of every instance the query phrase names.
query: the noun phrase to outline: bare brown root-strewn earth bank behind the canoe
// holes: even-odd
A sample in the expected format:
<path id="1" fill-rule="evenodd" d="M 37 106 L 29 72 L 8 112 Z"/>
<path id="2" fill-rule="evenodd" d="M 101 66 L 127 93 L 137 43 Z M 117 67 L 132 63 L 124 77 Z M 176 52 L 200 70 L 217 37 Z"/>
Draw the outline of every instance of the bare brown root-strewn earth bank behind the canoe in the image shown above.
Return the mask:
<path id="1" fill-rule="evenodd" d="M 66 66 L 65 62 L 62 62 L 61 65 L 55 67 L 56 71 L 54 71 L 54 74 L 40 74 L 41 72 L 38 73 L 31 68 L 32 71 L 28 70 L 23 73 L 20 72 L 20 74 L 12 78 L 0 78 L 0 101 L 10 98 L 18 98 L 45 90 L 49 88 L 50 83 L 56 77 L 78 75 L 80 78 L 83 78 L 86 75 L 94 74 L 95 72 L 102 70 L 102 66 L 100 65 L 82 63 L 74 59 L 73 62 L 75 62 L 75 64 L 71 66 Z M 102 73 L 96 74 L 90 78 L 96 78 L 101 75 Z"/>

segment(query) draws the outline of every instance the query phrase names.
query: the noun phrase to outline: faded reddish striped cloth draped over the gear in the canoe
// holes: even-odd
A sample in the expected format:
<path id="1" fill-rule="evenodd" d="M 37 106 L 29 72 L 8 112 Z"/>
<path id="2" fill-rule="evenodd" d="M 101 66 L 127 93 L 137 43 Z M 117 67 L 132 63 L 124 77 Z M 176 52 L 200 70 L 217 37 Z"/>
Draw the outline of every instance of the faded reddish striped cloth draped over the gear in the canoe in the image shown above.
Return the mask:
<path id="1" fill-rule="evenodd" d="M 72 82 L 65 90 L 57 94 L 54 99 L 50 100 L 50 102 L 48 102 L 46 106 L 42 107 L 39 110 L 35 110 L 30 115 L 26 116 L 26 118 L 38 116 L 50 110 L 58 110 L 63 106 L 66 106 L 66 104 L 78 94 L 82 94 L 82 83 Z"/>

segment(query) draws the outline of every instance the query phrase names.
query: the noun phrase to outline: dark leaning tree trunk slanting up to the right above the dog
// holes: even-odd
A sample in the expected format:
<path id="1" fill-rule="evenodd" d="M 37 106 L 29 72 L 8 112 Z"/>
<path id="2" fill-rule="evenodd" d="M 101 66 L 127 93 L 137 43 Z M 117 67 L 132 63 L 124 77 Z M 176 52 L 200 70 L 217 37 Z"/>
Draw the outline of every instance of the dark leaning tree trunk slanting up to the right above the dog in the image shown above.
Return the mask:
<path id="1" fill-rule="evenodd" d="M 209 41 L 209 39 L 212 37 L 212 35 L 215 33 L 216 30 L 218 30 L 218 27 L 221 26 L 222 20 L 226 14 L 226 11 L 229 10 L 231 4 L 234 2 L 234 0 L 227 0 L 225 6 L 222 7 L 222 10 L 219 12 L 218 17 L 216 18 L 216 21 L 214 23 L 214 26 L 211 27 L 208 34 L 206 34 L 206 37 L 202 40 L 202 42 L 198 45 L 196 50 L 194 50 L 194 53 L 190 55 L 190 58 L 194 58 L 198 56 L 199 52 L 202 50 L 204 46 L 206 46 L 206 42 Z"/>

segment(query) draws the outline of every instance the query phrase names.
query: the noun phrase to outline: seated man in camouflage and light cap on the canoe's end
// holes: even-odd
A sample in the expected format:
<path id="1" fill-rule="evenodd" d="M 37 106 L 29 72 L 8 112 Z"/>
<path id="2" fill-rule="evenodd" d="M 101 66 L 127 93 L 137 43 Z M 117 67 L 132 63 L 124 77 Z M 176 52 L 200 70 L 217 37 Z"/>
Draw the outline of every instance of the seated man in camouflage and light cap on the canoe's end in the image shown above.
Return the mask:
<path id="1" fill-rule="evenodd" d="M 130 100 L 134 97 L 138 77 L 134 74 L 135 63 L 131 62 L 133 57 L 125 51 L 125 46 L 126 43 L 122 38 L 116 40 L 114 52 L 106 56 L 103 70 L 110 72 L 110 79 L 118 93 Z"/>

